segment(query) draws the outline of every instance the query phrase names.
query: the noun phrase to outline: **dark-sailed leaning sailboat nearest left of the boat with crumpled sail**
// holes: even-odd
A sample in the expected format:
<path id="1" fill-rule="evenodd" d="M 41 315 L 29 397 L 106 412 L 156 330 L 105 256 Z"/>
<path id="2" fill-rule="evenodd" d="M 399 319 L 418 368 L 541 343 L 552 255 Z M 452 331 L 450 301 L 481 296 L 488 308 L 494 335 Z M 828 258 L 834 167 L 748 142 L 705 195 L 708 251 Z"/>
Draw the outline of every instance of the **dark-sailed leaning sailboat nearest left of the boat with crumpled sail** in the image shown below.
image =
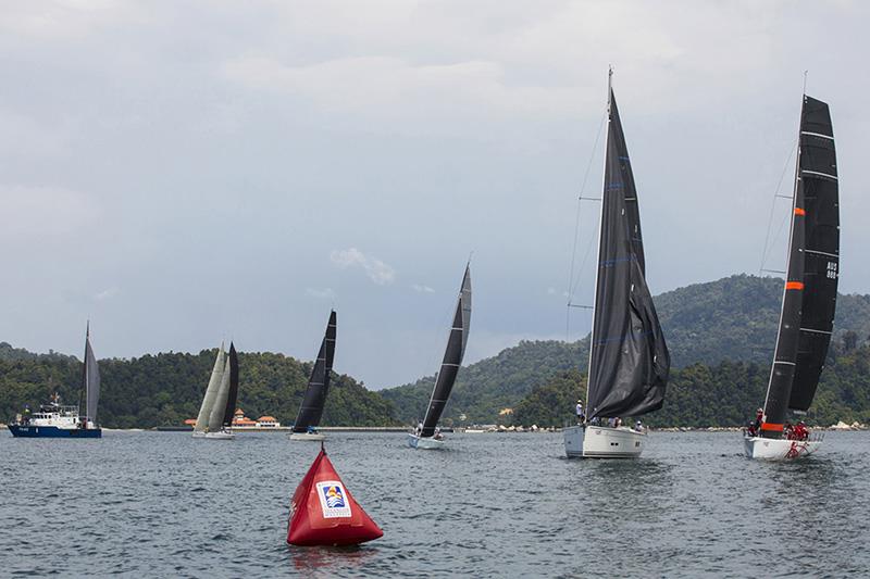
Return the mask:
<path id="1" fill-rule="evenodd" d="M 453 325 L 447 339 L 442 369 L 438 372 L 435 387 L 432 389 L 426 417 L 414 432 L 408 435 L 408 445 L 412 449 L 440 449 L 444 446 L 444 439 L 440 432 L 437 431 L 437 425 L 444 413 L 444 407 L 447 405 L 447 400 L 450 398 L 450 391 L 453 389 L 459 367 L 462 365 L 462 356 L 465 354 L 465 344 L 469 340 L 470 323 L 471 269 L 470 264 L 467 264 L 459 298 L 457 298 L 456 302 Z"/>

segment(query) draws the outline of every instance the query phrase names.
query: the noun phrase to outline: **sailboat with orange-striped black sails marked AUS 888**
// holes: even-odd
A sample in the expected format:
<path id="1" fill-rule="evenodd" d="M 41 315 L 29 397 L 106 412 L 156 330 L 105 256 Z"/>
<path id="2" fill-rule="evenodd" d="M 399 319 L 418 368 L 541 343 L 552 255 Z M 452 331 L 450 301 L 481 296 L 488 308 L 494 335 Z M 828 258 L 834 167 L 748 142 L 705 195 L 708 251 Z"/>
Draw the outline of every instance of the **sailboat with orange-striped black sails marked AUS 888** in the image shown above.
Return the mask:
<path id="1" fill-rule="evenodd" d="M 816 395 L 834 329 L 838 277 L 840 197 L 831 112 L 826 103 L 804 95 L 776 350 L 761 416 L 744 436 L 751 458 L 796 458 L 821 444 L 801 423 L 792 430 L 786 418 L 788 411 L 806 414 Z"/>

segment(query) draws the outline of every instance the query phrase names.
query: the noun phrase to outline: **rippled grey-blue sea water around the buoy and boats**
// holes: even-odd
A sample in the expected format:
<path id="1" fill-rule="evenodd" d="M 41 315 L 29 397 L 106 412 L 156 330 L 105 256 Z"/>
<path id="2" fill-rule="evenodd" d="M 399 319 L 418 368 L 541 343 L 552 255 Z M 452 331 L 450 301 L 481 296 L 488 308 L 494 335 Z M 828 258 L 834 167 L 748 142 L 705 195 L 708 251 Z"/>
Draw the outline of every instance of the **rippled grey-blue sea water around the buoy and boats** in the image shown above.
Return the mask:
<path id="1" fill-rule="evenodd" d="M 870 433 L 829 432 L 795 463 L 750 462 L 737 433 L 654 433 L 638 461 L 568 461 L 561 435 L 330 435 L 384 537 L 285 544 L 315 443 L 105 432 L 0 433 L 0 575 L 136 577 L 867 576 Z"/>

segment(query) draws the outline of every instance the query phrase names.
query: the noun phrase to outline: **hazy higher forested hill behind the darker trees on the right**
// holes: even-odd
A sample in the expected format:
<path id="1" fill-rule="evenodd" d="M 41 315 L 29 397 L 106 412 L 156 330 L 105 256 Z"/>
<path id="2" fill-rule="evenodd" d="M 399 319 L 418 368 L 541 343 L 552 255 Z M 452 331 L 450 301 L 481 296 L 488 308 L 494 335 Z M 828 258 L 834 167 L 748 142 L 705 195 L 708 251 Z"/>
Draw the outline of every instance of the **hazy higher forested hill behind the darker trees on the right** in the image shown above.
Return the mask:
<path id="1" fill-rule="evenodd" d="M 783 281 L 735 275 L 695 284 L 655 298 L 674 368 L 689 364 L 718 367 L 723 361 L 755 362 L 767 373 L 773 355 Z M 840 295 L 836 341 L 852 345 L 870 335 L 870 295 Z M 470 340 L 474 340 L 472 329 Z M 497 356 L 463 367 L 445 411 L 448 423 L 508 423 L 499 412 L 513 408 L 535 386 L 566 370 L 585 372 L 586 340 L 521 342 Z M 434 376 L 382 390 L 398 417 L 412 423 L 426 410 Z M 732 394 L 733 395 L 733 394 Z M 755 402 L 757 404 L 757 402 Z"/>

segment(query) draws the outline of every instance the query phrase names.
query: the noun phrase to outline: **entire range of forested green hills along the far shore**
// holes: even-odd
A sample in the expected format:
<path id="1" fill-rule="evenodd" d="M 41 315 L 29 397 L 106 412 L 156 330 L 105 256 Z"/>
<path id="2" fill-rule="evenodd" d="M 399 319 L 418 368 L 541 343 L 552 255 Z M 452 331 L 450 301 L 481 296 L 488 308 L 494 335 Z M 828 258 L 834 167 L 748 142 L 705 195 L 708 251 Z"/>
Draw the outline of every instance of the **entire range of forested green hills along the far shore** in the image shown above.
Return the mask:
<path id="1" fill-rule="evenodd" d="M 673 358 L 673 376 L 657 425 L 734 425 L 763 398 L 779 319 L 782 280 L 731 276 L 656 298 Z M 832 360 L 816 410 L 825 419 L 863 416 L 868 400 L 865 343 L 870 295 L 841 295 Z M 470 337 L 474 340 L 474 332 Z M 214 350 L 100 361 L 100 421 L 109 427 L 176 425 L 194 417 L 214 362 Z M 571 418 L 588 357 L 586 340 L 522 341 L 463 367 L 444 423 L 560 424 Z M 272 353 L 240 354 L 239 405 L 249 416 L 296 415 L 310 363 Z M 73 356 L 33 354 L 0 343 L 0 418 L 38 404 L 58 390 L 77 402 L 82 366 Z M 434 377 L 378 392 L 336 376 L 324 425 L 412 424 L 422 418 Z M 826 386 L 825 386 L 826 385 Z M 500 414 L 511 408 L 515 414 Z M 549 408 L 549 410 L 548 410 Z"/>

